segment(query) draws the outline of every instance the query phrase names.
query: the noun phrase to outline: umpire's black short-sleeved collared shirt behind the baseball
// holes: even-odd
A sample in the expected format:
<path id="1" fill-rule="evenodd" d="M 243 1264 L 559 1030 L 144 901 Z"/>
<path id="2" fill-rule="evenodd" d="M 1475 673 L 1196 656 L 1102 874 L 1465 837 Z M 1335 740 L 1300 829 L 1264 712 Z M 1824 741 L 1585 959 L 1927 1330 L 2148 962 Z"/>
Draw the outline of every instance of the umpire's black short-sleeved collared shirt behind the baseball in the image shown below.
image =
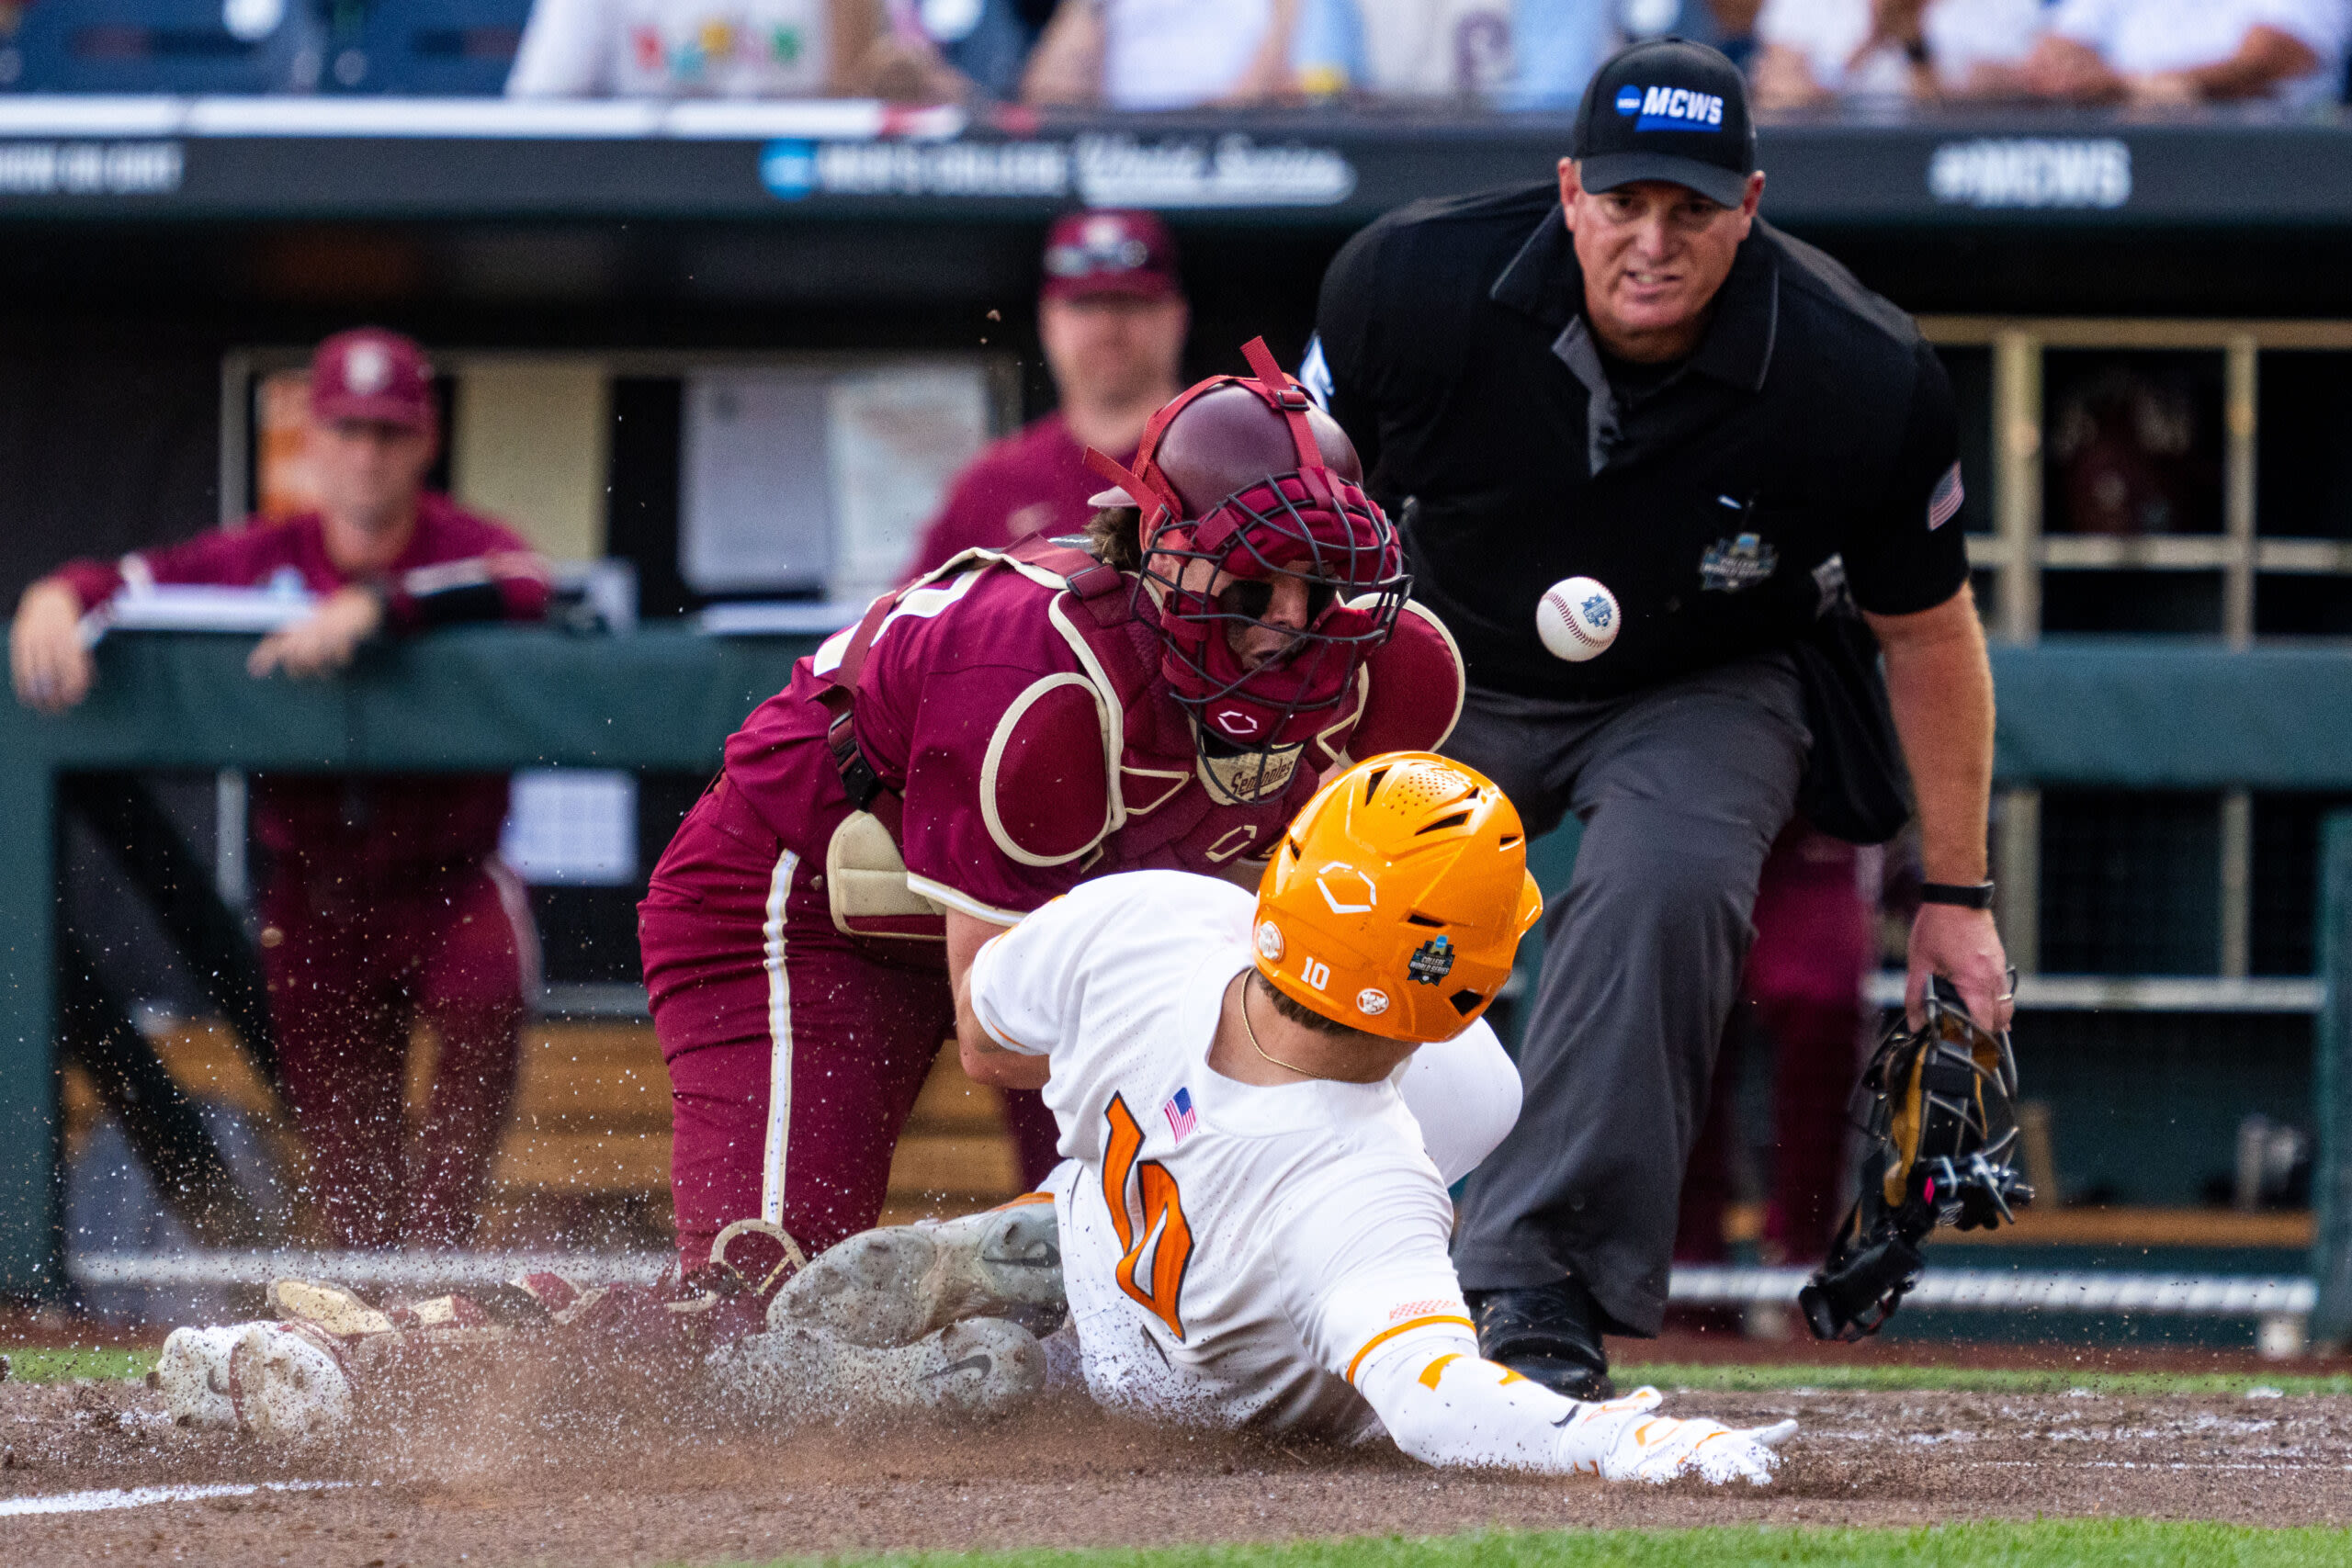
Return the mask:
<path id="1" fill-rule="evenodd" d="M 1557 188 L 1418 202 L 1322 284 L 1331 414 L 1402 515 L 1414 597 L 1477 686 L 1616 696 L 1795 642 L 1835 602 L 1907 614 L 1969 578 L 1952 386 L 1910 317 L 1757 221 L 1698 350 L 1611 367 Z M 1552 658 L 1566 576 L 1623 607 L 1616 646 Z"/>

